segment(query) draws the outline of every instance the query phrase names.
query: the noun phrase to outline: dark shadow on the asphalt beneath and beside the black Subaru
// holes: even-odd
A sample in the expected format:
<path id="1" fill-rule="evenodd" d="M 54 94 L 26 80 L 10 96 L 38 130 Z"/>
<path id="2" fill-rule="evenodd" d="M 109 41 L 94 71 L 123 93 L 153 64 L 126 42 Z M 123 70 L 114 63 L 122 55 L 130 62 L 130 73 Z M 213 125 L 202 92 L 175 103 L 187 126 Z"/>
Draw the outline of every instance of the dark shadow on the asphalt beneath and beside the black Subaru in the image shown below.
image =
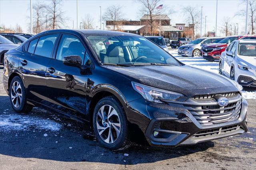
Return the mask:
<path id="1" fill-rule="evenodd" d="M 0 154 L 65 162 L 142 164 L 202 152 L 214 146 L 204 142 L 176 148 L 134 144 L 124 151 L 102 148 L 87 124 L 35 107 L 31 113 L 15 113 L 8 96 L 0 96 Z M 43 125 L 43 126 L 42 126 Z M 57 126 L 55 128 L 44 128 Z M 124 156 L 128 153 L 129 156 Z"/>

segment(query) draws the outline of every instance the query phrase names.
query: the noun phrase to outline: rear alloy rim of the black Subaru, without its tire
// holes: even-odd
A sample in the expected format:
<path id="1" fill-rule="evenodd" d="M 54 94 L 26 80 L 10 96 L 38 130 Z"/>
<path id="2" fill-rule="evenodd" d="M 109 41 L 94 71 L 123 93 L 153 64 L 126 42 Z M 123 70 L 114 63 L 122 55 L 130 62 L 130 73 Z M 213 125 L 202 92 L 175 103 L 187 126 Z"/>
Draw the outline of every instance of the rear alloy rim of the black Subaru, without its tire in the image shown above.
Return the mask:
<path id="1" fill-rule="evenodd" d="M 18 81 L 12 83 L 11 99 L 14 107 L 18 108 L 22 101 L 22 90 Z"/>

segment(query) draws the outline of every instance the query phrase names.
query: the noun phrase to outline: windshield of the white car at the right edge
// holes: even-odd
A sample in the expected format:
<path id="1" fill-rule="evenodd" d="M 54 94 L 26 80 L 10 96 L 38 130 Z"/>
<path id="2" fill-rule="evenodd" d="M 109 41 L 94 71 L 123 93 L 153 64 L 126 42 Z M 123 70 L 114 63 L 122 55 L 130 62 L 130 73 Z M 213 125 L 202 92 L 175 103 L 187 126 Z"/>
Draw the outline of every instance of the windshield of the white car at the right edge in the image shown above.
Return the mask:
<path id="1" fill-rule="evenodd" d="M 238 54 L 256 57 L 256 43 L 239 43 Z"/>

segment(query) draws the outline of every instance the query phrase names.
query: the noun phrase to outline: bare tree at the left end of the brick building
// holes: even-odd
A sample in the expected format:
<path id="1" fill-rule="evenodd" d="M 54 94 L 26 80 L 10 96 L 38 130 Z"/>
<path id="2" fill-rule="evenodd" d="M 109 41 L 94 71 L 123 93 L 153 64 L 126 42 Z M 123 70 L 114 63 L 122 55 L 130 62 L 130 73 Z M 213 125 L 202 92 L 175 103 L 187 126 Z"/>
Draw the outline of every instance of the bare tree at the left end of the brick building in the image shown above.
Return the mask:
<path id="1" fill-rule="evenodd" d="M 103 14 L 103 20 L 108 20 L 113 22 L 114 30 L 116 28 L 116 25 L 118 21 L 123 20 L 122 18 L 122 6 L 108 6 L 106 9 L 106 12 Z M 101 23 L 100 23 L 101 24 Z"/>

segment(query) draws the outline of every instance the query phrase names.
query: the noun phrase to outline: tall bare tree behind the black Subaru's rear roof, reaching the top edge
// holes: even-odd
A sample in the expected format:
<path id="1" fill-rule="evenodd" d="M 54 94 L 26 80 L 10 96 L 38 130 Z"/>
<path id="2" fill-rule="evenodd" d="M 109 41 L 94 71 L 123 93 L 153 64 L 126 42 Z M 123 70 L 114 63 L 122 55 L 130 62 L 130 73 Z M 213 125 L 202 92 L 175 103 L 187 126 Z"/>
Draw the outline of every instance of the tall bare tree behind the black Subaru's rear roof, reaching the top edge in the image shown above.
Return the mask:
<path id="1" fill-rule="evenodd" d="M 47 16 L 49 16 L 50 29 L 58 29 L 64 26 L 65 18 L 61 9 L 62 0 L 52 0 L 51 4 L 47 6 Z"/>

